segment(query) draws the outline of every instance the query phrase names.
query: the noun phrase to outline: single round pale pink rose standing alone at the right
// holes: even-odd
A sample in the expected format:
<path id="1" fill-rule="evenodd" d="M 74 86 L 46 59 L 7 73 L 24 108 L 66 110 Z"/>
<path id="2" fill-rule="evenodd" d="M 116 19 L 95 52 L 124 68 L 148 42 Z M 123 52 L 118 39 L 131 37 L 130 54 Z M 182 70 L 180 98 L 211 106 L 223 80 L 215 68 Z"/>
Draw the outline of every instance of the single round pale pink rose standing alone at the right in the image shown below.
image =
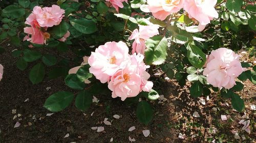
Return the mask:
<path id="1" fill-rule="evenodd" d="M 232 88 L 236 84 L 235 78 L 243 72 L 239 55 L 227 48 L 212 50 L 206 62 L 203 75 L 214 87 Z"/>

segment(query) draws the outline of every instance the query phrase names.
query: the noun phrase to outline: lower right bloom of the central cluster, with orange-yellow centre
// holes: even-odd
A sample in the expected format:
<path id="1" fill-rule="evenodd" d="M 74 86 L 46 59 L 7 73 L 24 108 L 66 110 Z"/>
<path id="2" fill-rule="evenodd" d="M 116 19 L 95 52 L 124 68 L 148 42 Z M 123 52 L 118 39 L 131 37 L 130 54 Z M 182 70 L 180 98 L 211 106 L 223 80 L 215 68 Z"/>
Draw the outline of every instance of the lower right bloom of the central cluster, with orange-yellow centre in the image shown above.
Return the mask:
<path id="1" fill-rule="evenodd" d="M 152 81 L 147 81 L 150 77 L 143 63 L 142 54 L 131 55 L 131 61 L 124 69 L 118 70 L 109 82 L 108 88 L 112 91 L 112 97 L 121 97 L 124 101 L 127 97 L 135 97 L 142 90 L 149 92 L 153 87 Z"/>

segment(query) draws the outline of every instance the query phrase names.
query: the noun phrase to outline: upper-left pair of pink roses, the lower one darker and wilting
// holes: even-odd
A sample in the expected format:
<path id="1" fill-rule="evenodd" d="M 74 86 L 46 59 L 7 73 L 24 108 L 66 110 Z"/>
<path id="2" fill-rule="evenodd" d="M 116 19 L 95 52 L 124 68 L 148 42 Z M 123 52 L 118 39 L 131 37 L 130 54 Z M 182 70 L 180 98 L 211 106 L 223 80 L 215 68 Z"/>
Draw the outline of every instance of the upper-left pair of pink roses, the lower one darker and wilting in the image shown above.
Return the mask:
<path id="1" fill-rule="evenodd" d="M 28 35 L 24 37 L 24 41 L 30 41 L 35 44 L 44 44 L 50 38 L 47 32 L 48 27 L 58 25 L 64 17 L 65 11 L 57 5 L 52 7 L 34 7 L 32 13 L 26 19 L 25 24 L 30 25 L 24 28 L 24 33 Z M 68 32 L 59 41 L 65 41 L 70 36 Z"/>

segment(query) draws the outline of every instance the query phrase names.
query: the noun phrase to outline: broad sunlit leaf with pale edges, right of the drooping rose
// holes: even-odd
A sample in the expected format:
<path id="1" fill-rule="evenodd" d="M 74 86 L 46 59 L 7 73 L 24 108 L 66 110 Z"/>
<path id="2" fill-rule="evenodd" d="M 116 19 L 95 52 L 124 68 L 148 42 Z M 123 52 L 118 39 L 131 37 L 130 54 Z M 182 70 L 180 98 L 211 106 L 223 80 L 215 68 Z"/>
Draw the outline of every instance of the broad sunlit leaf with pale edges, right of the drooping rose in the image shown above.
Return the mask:
<path id="1" fill-rule="evenodd" d="M 167 56 L 167 39 L 161 36 L 154 36 L 145 42 L 145 63 L 147 65 L 161 65 Z"/>

